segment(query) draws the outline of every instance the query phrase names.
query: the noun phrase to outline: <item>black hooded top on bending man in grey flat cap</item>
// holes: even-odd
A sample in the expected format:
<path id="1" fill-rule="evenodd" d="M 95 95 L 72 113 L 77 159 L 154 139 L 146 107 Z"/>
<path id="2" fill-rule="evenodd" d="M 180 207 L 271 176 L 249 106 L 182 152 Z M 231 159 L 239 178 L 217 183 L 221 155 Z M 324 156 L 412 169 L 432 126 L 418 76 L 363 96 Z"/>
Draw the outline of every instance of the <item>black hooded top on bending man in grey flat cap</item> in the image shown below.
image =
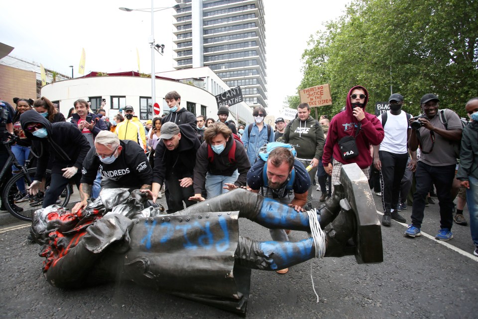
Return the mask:
<path id="1" fill-rule="evenodd" d="M 195 130 L 189 124 L 178 125 L 178 127 L 181 133 L 181 139 L 175 150 L 169 151 L 162 139 L 159 140 L 156 146 L 154 152 L 153 183 L 162 185 L 166 176 L 171 173 L 177 176 L 193 178 L 196 153 L 201 143 L 196 137 Z"/>

